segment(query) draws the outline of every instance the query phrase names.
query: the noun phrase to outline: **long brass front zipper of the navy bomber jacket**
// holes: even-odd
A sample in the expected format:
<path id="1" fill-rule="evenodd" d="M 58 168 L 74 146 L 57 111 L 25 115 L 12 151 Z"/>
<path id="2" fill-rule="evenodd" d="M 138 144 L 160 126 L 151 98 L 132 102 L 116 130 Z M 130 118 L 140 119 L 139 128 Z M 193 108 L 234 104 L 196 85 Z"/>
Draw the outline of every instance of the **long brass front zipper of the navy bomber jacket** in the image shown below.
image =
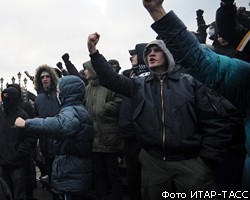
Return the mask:
<path id="1" fill-rule="evenodd" d="M 165 128 L 165 112 L 164 112 L 164 96 L 163 96 L 163 79 L 160 78 L 160 93 L 161 93 L 161 122 L 162 122 L 162 148 L 163 148 L 163 160 L 166 160 L 166 151 L 165 151 L 165 145 L 166 145 L 166 128 Z"/>

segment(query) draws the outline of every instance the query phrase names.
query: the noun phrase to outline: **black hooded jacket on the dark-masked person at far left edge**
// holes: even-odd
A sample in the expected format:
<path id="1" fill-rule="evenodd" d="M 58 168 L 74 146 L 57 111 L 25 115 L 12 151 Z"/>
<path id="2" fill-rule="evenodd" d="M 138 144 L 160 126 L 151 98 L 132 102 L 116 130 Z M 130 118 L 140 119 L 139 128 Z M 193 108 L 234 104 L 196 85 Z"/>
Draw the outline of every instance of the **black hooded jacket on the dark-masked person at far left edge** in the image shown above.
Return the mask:
<path id="1" fill-rule="evenodd" d="M 22 128 L 13 128 L 16 118 L 28 118 L 20 108 L 19 93 L 9 87 L 2 92 L 4 115 L 0 121 L 0 166 L 4 168 L 24 167 L 36 145 L 36 137 Z"/>

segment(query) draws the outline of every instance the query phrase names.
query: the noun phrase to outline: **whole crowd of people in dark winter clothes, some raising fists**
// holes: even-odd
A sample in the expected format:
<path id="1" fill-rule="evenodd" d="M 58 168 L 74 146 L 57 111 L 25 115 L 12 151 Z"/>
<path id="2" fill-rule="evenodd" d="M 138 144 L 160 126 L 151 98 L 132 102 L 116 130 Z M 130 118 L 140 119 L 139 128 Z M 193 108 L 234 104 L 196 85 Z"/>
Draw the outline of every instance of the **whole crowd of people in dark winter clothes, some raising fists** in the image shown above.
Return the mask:
<path id="1" fill-rule="evenodd" d="M 199 9 L 189 31 L 163 1 L 142 0 L 158 36 L 128 51 L 131 68 L 107 60 L 94 32 L 81 70 L 65 53 L 64 64 L 25 72 L 30 100 L 19 84 L 3 90 L 0 199 L 34 199 L 38 178 L 53 200 L 93 188 L 122 200 L 121 159 L 131 200 L 250 197 L 250 12 L 221 0 L 214 22 Z"/>

